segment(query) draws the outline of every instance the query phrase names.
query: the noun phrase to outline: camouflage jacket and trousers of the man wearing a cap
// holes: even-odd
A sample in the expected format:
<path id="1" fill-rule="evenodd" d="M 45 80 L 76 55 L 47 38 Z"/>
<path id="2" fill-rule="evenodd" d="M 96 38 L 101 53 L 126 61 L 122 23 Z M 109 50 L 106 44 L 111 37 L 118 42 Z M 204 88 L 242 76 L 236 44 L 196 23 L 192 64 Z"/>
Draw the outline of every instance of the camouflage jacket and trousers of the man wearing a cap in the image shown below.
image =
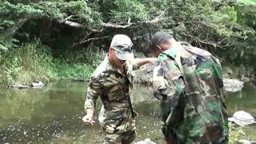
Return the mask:
<path id="1" fill-rule="evenodd" d="M 126 62 L 126 74 L 121 74 L 110 65 L 108 58 L 98 66 L 90 78 L 85 110 L 95 109 L 98 96 L 106 110 L 102 130 L 106 132 L 105 143 L 131 143 L 136 136 L 130 90 L 132 88 L 131 70 L 137 69 L 136 62 Z"/>

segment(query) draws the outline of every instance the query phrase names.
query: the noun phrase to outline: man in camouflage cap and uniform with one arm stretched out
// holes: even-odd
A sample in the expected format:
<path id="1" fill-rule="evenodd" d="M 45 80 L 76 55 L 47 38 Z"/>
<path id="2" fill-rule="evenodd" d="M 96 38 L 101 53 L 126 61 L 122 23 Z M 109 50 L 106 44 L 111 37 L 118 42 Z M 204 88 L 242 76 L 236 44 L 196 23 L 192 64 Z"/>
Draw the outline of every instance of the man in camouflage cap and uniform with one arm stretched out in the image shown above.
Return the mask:
<path id="1" fill-rule="evenodd" d="M 132 46 L 126 35 L 115 35 L 109 54 L 90 78 L 85 102 L 86 116 L 82 120 L 86 124 L 93 124 L 95 102 L 99 96 L 106 116 L 102 124 L 102 130 L 106 133 L 104 143 L 129 144 L 136 137 L 130 73 L 148 62 L 154 63 L 155 58 L 134 60 Z"/>

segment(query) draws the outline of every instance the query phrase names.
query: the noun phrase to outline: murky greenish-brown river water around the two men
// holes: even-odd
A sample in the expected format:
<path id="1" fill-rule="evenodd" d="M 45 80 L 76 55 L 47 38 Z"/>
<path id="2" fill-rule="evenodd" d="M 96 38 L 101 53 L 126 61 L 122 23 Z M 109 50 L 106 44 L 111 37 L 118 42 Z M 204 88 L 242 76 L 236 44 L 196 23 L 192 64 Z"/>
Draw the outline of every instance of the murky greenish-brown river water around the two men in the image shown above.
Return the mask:
<path id="1" fill-rule="evenodd" d="M 95 126 L 82 124 L 87 83 L 51 82 L 42 89 L 0 90 L 0 143 L 102 143 L 104 134 L 97 117 Z M 229 114 L 245 110 L 256 116 L 256 88 L 247 84 L 226 97 Z M 152 90 L 134 86 L 138 112 L 136 141 L 151 138 L 162 143 L 159 104 Z M 256 126 L 246 126 L 246 138 L 256 139 Z"/>

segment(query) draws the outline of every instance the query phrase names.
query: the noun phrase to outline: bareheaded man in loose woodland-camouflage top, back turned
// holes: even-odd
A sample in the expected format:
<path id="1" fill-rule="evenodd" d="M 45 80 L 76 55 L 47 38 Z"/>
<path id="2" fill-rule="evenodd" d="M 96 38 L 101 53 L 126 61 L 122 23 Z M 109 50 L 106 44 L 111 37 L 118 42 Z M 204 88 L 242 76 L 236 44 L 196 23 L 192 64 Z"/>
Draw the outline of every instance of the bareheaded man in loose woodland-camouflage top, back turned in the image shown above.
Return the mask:
<path id="1" fill-rule="evenodd" d="M 165 32 L 154 34 L 151 50 L 154 97 L 161 102 L 166 143 L 227 143 L 222 68 L 212 54 L 176 42 Z"/>

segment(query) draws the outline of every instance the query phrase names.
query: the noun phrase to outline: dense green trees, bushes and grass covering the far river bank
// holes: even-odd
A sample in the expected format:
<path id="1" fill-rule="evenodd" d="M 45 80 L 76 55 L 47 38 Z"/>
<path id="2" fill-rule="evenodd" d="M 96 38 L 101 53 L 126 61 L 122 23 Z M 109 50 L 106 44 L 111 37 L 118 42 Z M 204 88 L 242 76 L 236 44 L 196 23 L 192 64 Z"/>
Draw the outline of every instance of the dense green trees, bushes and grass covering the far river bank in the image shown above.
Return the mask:
<path id="1" fill-rule="evenodd" d="M 166 30 L 255 70 L 255 0 L 1 0 L 0 82 L 86 79 L 114 34 L 146 54 Z"/>

